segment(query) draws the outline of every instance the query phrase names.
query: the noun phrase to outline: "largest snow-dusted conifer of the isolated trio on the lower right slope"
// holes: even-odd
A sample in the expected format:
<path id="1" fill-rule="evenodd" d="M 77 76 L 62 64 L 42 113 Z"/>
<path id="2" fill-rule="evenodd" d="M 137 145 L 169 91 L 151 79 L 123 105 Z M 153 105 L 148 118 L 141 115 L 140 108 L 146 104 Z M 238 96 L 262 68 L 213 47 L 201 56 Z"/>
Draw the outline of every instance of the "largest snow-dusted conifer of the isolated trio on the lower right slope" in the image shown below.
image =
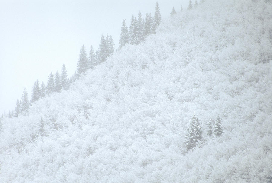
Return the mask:
<path id="1" fill-rule="evenodd" d="M 187 135 L 185 136 L 185 146 L 187 150 L 190 150 L 202 141 L 202 130 L 199 123 L 199 119 L 193 115 L 190 120 L 190 125 L 187 129 Z"/>

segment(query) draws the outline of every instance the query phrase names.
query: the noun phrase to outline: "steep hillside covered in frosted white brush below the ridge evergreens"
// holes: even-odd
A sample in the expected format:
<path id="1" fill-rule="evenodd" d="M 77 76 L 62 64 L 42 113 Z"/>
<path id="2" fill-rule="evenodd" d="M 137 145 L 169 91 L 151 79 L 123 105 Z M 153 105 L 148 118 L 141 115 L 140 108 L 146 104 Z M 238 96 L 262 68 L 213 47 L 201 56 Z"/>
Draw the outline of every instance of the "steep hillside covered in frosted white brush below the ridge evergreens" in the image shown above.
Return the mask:
<path id="1" fill-rule="evenodd" d="M 271 1 L 206 0 L 163 20 L 2 121 L 0 181 L 271 182 L 271 12 Z M 205 141 L 186 151 L 194 113 Z M 210 137 L 218 114 L 223 135 Z"/>

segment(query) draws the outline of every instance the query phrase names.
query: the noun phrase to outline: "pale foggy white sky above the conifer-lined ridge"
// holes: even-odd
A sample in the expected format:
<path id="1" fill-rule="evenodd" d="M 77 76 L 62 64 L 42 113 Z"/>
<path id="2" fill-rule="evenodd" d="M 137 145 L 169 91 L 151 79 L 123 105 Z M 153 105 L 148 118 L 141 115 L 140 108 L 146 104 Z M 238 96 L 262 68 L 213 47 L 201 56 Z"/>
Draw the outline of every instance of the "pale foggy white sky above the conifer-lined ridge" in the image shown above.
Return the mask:
<path id="1" fill-rule="evenodd" d="M 127 26 L 141 10 L 154 15 L 157 0 L 0 0 L 0 115 L 15 108 L 26 87 L 31 99 L 34 81 L 47 85 L 50 72 L 65 63 L 69 77 L 76 70 L 81 46 L 99 46 L 101 34 L 112 35 L 118 48 L 122 20 Z M 158 0 L 162 18 L 180 11 L 188 0 Z"/>

